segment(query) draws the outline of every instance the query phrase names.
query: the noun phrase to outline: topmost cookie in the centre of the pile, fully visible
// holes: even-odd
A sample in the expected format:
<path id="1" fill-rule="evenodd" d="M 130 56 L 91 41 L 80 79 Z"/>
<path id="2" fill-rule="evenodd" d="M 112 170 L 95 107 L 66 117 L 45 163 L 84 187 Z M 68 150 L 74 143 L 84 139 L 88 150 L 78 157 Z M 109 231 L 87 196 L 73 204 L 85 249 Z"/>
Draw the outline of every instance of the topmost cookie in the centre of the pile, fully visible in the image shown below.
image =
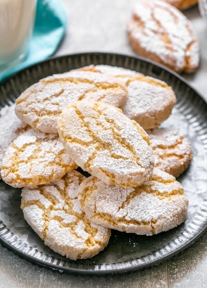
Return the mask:
<path id="1" fill-rule="evenodd" d="M 79 101 L 57 120 L 60 139 L 83 170 L 107 184 L 138 186 L 152 175 L 148 135 L 114 106 Z"/>

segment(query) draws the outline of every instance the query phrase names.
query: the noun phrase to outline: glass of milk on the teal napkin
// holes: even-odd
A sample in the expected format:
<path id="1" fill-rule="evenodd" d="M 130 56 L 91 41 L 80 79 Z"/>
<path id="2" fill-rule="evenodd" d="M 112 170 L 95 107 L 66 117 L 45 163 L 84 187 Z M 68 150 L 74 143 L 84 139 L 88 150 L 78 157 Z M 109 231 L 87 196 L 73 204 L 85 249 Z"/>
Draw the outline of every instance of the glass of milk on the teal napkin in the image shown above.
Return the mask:
<path id="1" fill-rule="evenodd" d="M 0 68 L 26 56 L 36 6 L 37 0 L 0 0 Z"/>

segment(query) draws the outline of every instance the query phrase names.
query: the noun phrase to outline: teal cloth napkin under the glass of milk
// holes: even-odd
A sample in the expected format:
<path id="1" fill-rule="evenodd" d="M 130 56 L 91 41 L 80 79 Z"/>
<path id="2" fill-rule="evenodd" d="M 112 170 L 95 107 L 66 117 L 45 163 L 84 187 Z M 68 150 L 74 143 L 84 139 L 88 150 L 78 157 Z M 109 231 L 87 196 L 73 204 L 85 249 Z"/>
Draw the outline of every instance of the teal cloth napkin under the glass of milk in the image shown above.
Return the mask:
<path id="1" fill-rule="evenodd" d="M 64 36 L 67 16 L 61 0 L 38 0 L 34 31 L 26 58 L 0 73 L 0 81 L 51 56 Z M 1 44 L 0 44 L 1 45 Z"/>

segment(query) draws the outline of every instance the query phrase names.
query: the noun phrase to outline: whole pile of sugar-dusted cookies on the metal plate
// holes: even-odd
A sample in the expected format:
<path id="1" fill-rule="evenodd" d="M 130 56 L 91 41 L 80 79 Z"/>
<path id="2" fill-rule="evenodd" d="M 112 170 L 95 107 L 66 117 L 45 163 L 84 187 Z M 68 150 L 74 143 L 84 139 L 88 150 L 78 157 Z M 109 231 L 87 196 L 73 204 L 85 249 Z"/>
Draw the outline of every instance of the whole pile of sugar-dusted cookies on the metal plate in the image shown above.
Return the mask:
<path id="1" fill-rule="evenodd" d="M 24 218 L 45 245 L 85 259 L 106 247 L 110 229 L 152 235 L 185 221 L 175 177 L 191 145 L 157 128 L 175 101 L 158 79 L 91 65 L 41 79 L 1 110 L 1 177 L 24 187 Z"/>

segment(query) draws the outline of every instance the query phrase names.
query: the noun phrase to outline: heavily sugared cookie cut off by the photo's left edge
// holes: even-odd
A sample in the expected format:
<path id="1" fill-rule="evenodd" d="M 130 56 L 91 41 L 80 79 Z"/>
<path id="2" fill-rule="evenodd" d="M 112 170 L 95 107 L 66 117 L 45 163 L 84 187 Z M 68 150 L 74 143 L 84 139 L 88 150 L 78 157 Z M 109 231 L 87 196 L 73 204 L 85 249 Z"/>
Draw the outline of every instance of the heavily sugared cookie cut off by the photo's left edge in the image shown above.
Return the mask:
<path id="1" fill-rule="evenodd" d="M 1 164 L 9 144 L 18 135 L 29 129 L 29 125 L 23 123 L 15 114 L 15 104 L 5 106 L 0 111 L 0 171 Z M 0 175 L 1 179 L 1 175 Z"/>

